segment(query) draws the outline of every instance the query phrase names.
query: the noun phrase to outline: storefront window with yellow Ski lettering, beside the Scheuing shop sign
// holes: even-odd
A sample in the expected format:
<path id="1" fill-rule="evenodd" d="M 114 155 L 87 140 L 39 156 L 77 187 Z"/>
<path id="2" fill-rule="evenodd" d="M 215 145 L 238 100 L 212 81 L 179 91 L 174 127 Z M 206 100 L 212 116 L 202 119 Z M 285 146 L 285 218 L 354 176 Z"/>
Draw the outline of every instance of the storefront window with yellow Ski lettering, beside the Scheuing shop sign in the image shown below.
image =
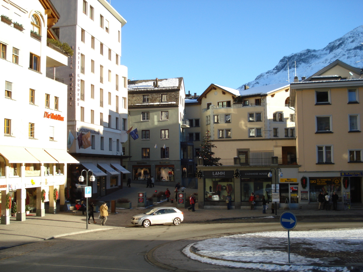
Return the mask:
<path id="1" fill-rule="evenodd" d="M 324 195 L 327 193 L 330 197 L 334 192 L 337 193 L 339 197 L 342 197 L 342 185 L 340 177 L 311 177 L 309 178 L 309 183 L 310 202 L 318 202 L 318 195 L 321 191 Z"/>

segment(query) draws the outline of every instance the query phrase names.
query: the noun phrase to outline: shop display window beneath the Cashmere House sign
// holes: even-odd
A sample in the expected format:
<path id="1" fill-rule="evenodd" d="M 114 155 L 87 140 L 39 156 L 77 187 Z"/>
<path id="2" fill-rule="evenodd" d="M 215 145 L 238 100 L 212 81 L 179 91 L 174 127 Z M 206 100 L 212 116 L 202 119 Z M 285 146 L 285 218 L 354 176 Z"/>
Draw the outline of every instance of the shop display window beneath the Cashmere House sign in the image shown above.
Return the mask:
<path id="1" fill-rule="evenodd" d="M 267 201 L 272 200 L 271 181 L 266 179 L 242 178 L 241 190 L 241 201 L 249 201 L 251 193 L 254 193 L 256 201 L 262 201 L 262 196 L 265 196 Z"/>

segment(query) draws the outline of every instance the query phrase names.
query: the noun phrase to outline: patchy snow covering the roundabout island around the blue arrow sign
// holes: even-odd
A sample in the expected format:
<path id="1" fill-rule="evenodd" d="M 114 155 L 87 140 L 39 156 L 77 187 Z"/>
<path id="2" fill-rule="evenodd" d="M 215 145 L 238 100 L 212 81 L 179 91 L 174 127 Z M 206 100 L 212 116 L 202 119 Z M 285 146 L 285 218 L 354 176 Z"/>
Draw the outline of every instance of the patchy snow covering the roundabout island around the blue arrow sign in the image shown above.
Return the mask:
<path id="1" fill-rule="evenodd" d="M 290 231 L 290 248 L 294 244 L 309 251 L 362 251 L 363 229 Z M 314 259 L 298 254 L 290 254 L 290 264 L 287 264 L 286 246 L 287 231 L 272 231 L 206 239 L 188 245 L 183 252 L 191 259 L 230 267 L 290 272 L 309 272 L 314 269 L 324 272 L 349 271 L 343 267 L 324 267 L 332 258 Z M 223 260 L 198 256 L 190 252 L 190 247 L 194 247 L 200 255 Z"/>

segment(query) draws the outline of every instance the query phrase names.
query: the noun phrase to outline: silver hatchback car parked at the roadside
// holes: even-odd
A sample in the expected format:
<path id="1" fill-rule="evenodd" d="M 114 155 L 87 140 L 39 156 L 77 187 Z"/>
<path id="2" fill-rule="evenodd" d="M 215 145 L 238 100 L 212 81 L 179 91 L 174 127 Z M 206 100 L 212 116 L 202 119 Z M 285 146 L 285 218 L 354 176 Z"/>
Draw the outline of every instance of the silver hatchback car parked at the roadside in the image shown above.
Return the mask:
<path id="1" fill-rule="evenodd" d="M 183 222 L 183 212 L 174 207 L 154 208 L 146 213 L 134 215 L 131 223 L 147 228 L 150 225 L 173 223 L 175 226 Z"/>

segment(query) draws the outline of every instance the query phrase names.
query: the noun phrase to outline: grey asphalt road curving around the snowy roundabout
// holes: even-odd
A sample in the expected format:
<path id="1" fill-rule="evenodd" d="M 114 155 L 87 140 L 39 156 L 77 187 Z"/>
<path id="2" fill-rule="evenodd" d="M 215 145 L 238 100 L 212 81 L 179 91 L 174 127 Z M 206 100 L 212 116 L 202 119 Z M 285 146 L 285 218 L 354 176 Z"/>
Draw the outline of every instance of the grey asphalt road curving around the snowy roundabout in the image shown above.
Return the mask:
<path id="1" fill-rule="evenodd" d="M 152 264 L 153 258 L 146 254 L 155 247 L 169 243 L 170 248 L 178 249 L 181 244 L 207 239 L 221 234 L 283 230 L 279 222 L 238 220 L 181 223 L 179 226 L 161 225 L 117 228 L 114 230 L 90 232 L 46 240 L 0 251 L 1 271 L 166 271 Z M 298 222 L 294 230 L 331 229 L 363 227 L 360 222 L 336 222 L 334 218 L 321 219 L 320 222 Z M 196 238 L 197 237 L 197 238 Z M 150 254 L 150 253 L 149 253 Z M 166 263 L 187 271 L 211 271 L 208 264 L 194 260 L 177 263 L 166 257 Z M 181 266 L 181 267 L 180 267 Z M 189 267 L 189 268 L 188 268 Z M 215 266 L 214 266 L 215 267 Z M 193 269 L 195 268 L 195 269 Z M 217 269 L 218 271 L 237 271 L 234 268 Z M 248 269 L 238 269 L 250 271 Z M 256 270 L 251 270 L 256 271 Z"/>

